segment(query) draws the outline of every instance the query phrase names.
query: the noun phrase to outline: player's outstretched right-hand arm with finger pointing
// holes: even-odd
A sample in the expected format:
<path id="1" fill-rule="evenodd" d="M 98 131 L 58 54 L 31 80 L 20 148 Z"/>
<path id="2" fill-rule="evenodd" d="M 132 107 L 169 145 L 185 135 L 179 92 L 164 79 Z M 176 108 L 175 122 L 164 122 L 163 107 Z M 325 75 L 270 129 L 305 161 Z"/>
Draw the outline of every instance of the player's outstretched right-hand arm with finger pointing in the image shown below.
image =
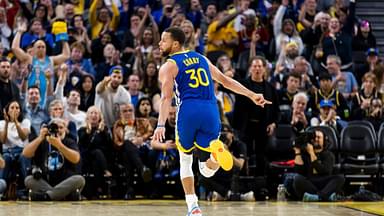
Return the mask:
<path id="1" fill-rule="evenodd" d="M 265 104 L 272 104 L 272 102 L 265 100 L 262 94 L 256 94 L 255 92 L 245 88 L 236 80 L 225 76 L 216 66 L 214 66 L 210 61 L 209 69 L 212 74 L 212 78 L 222 84 L 225 88 L 232 90 L 237 94 L 244 95 L 251 99 L 256 105 L 264 107 Z"/>

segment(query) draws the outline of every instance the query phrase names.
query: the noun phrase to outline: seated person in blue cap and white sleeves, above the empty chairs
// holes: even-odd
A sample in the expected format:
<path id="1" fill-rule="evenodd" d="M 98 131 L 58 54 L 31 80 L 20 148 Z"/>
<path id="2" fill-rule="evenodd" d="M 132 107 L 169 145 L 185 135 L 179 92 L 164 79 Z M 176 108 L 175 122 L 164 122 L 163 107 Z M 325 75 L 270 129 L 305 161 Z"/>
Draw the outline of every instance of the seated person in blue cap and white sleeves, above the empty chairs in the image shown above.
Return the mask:
<path id="1" fill-rule="evenodd" d="M 311 119 L 311 126 L 328 126 L 339 134 L 346 125 L 347 123 L 337 116 L 336 107 L 331 100 L 321 100 L 320 115 Z"/>

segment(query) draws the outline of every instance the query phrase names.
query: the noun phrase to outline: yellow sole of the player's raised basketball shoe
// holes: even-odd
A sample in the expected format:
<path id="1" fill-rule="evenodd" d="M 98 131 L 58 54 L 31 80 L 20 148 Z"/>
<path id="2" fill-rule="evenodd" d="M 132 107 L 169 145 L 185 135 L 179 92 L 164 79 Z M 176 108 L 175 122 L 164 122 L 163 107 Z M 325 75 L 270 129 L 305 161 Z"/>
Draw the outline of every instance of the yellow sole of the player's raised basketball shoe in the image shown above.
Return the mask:
<path id="1" fill-rule="evenodd" d="M 220 167 L 225 171 L 229 171 L 233 167 L 232 154 L 224 148 L 224 144 L 220 140 L 213 140 L 209 144 L 211 154 L 219 163 Z"/>

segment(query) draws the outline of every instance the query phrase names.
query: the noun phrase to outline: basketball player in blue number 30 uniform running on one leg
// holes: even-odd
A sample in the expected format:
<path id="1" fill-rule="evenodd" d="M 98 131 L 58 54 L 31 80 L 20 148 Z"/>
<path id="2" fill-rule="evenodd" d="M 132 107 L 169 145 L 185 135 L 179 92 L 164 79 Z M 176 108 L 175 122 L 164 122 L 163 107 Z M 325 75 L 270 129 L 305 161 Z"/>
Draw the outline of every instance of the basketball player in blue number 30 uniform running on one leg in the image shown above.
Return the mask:
<path id="1" fill-rule="evenodd" d="M 176 145 L 180 153 L 180 178 L 188 206 L 187 215 L 201 216 L 194 188 L 192 150 L 197 147 L 199 170 L 205 177 L 212 177 L 220 167 L 228 171 L 233 166 L 231 153 L 218 139 L 221 123 L 212 79 L 249 97 L 259 106 L 271 102 L 225 76 L 199 53 L 184 50 L 184 42 L 185 35 L 177 27 L 166 29 L 159 42 L 160 52 L 168 59 L 159 71 L 162 96 L 153 139 L 159 142 L 165 139 L 165 121 L 175 90 L 178 103 Z"/>

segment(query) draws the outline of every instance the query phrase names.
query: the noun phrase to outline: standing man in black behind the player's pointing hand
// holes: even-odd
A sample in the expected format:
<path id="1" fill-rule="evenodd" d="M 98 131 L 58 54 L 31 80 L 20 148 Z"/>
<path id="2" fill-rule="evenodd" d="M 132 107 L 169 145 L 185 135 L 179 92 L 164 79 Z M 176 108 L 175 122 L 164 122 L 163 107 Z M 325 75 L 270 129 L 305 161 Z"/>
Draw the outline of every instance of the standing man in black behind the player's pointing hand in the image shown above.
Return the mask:
<path id="1" fill-rule="evenodd" d="M 279 118 L 277 92 L 264 78 L 266 67 L 267 62 L 263 57 L 254 57 L 249 66 L 250 76 L 244 80 L 243 85 L 253 92 L 262 92 L 272 105 L 261 108 L 238 96 L 234 113 L 233 125 L 239 131 L 240 139 L 247 144 L 248 156 L 256 155 L 256 176 L 265 174 L 267 138 L 273 134 Z"/>

